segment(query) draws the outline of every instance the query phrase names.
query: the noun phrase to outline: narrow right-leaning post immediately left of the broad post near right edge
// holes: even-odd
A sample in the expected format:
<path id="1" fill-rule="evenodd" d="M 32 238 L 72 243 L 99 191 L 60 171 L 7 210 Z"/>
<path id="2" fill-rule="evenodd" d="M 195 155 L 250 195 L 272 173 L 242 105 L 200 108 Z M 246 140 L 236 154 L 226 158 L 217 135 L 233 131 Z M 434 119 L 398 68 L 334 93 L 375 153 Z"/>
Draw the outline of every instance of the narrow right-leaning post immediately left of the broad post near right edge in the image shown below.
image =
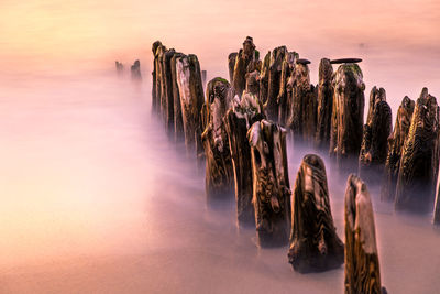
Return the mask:
<path id="1" fill-rule="evenodd" d="M 405 96 L 397 110 L 394 131 L 388 138 L 388 154 L 386 156 L 384 181 L 381 188 L 381 199 L 385 202 L 394 202 L 394 197 L 396 196 L 402 151 L 409 132 L 413 112 L 414 100 Z"/>

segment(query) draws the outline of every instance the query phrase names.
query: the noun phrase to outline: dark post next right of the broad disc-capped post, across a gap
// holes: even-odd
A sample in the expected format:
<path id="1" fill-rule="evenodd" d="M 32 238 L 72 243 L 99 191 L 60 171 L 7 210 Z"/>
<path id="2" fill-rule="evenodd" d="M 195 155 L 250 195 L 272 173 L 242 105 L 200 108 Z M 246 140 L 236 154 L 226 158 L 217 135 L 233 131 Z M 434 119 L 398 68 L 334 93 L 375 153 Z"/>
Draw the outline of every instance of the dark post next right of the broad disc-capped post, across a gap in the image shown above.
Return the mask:
<path id="1" fill-rule="evenodd" d="M 359 174 L 369 184 L 377 185 L 383 178 L 391 131 L 392 108 L 386 102 L 385 89 L 373 87 L 359 155 Z"/>

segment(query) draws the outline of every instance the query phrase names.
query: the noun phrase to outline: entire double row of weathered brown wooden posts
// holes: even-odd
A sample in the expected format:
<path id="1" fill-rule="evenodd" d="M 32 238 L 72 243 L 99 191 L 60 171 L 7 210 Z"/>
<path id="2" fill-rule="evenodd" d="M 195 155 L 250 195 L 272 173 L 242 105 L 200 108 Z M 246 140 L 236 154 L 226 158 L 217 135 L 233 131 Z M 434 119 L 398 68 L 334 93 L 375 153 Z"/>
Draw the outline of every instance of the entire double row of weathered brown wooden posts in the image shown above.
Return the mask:
<path id="1" fill-rule="evenodd" d="M 381 198 L 394 200 L 396 209 L 432 208 L 440 150 L 436 98 L 427 89 L 416 102 L 405 97 L 392 132 L 383 88 L 372 89 L 363 122 L 360 59 L 322 58 L 314 86 L 309 61 L 286 46 L 260 61 L 252 37 L 246 37 L 243 47 L 229 55 L 231 83 L 211 79 L 205 98 L 196 55 L 168 50 L 158 41 L 152 50 L 152 109 L 174 140 L 185 141 L 189 156 L 205 160 L 208 204 L 234 190 L 239 225 L 255 226 L 261 247 L 289 242 L 288 260 L 299 272 L 345 263 L 345 293 L 381 293 L 365 183 L 382 185 Z M 332 64 L 340 64 L 334 73 Z M 287 133 L 294 145 L 328 150 L 340 172 L 358 172 L 365 181 L 350 175 L 346 183 L 345 246 L 336 232 L 326 167 L 318 155 L 304 157 L 290 190 Z"/>

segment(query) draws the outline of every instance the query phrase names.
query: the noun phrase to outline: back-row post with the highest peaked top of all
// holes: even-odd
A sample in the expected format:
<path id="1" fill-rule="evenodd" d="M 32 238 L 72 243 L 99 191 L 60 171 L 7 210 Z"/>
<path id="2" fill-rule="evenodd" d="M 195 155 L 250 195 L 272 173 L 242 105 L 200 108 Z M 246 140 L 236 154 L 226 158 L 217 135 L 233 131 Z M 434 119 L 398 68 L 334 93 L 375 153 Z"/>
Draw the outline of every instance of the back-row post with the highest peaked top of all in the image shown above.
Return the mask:
<path id="1" fill-rule="evenodd" d="M 246 74 L 252 73 L 255 69 L 254 61 L 255 45 L 253 39 L 248 36 L 243 42 L 243 48 L 241 48 L 237 55 L 233 70 L 232 87 L 239 97 L 242 96 L 243 90 L 246 87 Z"/>

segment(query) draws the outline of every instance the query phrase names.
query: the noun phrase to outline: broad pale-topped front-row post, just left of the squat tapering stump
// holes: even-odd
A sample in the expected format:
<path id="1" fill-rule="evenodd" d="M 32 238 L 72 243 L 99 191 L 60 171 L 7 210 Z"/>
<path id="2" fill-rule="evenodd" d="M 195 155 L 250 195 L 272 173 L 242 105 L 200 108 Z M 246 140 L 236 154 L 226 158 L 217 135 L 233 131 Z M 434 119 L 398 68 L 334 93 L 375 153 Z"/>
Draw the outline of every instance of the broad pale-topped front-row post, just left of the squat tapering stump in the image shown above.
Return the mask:
<path id="1" fill-rule="evenodd" d="M 286 130 L 262 120 L 248 132 L 251 145 L 253 203 L 256 236 L 261 247 L 288 242 L 290 189 L 287 168 Z"/>

